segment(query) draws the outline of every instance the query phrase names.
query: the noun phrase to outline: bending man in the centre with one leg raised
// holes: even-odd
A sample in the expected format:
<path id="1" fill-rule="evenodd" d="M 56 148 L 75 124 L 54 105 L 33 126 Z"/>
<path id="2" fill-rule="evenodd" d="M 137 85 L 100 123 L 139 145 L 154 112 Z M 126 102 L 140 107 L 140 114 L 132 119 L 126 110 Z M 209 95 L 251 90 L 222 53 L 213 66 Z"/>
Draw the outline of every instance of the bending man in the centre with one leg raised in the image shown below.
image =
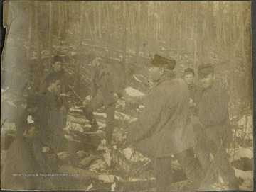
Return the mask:
<path id="1" fill-rule="evenodd" d="M 90 131 L 97 131 L 97 121 L 92 112 L 105 106 L 107 114 L 105 135 L 107 145 L 111 145 L 112 133 L 114 130 L 114 112 L 118 99 L 119 90 L 111 77 L 111 70 L 107 64 L 95 57 L 92 60 L 92 91 L 90 101 L 83 108 L 85 117 L 91 124 Z M 85 101 L 86 103 L 87 101 Z"/>

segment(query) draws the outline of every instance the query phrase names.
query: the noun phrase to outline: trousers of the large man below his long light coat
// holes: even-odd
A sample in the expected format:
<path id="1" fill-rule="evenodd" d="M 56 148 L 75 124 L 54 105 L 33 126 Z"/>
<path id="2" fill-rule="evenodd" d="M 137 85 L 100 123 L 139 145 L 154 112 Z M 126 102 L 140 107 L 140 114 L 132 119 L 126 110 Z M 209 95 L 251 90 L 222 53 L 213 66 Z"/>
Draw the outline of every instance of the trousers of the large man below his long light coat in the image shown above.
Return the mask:
<path id="1" fill-rule="evenodd" d="M 198 189 L 203 178 L 201 166 L 194 156 L 193 149 L 186 149 L 185 151 L 174 155 L 181 165 L 181 169 L 186 173 L 188 179 L 191 179 L 191 190 Z M 157 191 L 170 191 L 171 183 L 173 181 L 173 174 L 171 171 L 171 157 L 156 157 L 155 158 L 155 176 Z"/>

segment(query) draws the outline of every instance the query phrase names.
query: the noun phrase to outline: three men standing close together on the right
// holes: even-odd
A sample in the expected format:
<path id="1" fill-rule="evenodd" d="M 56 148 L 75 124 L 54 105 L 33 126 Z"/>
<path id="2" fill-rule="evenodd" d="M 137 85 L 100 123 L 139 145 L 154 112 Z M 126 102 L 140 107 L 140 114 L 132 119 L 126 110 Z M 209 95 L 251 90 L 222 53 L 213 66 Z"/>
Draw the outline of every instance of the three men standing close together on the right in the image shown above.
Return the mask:
<path id="1" fill-rule="evenodd" d="M 213 64 L 198 66 L 198 88 L 193 69 L 186 69 L 181 79 L 176 77 L 175 65 L 175 60 L 154 55 L 149 76 L 156 86 L 144 99 L 144 111 L 128 129 L 127 144 L 151 157 L 159 191 L 172 190 L 174 158 L 191 179 L 191 189 L 213 190 L 210 187 L 220 174 L 228 189 L 238 190 L 225 151 L 232 140 L 228 96 L 214 82 Z"/>

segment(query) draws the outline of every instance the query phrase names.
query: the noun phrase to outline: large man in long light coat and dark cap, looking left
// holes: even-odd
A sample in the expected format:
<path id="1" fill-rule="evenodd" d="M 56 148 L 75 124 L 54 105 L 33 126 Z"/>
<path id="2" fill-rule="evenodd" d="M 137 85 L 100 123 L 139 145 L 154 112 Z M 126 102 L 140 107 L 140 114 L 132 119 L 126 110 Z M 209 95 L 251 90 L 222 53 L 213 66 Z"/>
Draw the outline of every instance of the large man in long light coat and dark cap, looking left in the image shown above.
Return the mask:
<path id="1" fill-rule="evenodd" d="M 174 73 L 175 60 L 154 55 L 149 76 L 156 86 L 144 100 L 144 111 L 127 131 L 127 144 L 151 157 L 158 191 L 171 190 L 171 155 L 174 154 L 188 178 L 198 186 L 200 167 L 191 149 L 196 143 L 188 123 L 189 92 L 186 82 Z"/>

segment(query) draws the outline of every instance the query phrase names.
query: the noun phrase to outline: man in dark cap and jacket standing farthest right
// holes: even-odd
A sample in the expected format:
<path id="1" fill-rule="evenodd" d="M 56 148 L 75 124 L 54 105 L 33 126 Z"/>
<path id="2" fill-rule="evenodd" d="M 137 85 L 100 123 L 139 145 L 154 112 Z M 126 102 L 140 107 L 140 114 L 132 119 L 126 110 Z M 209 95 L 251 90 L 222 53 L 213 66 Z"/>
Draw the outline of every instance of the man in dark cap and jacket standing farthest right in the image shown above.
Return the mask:
<path id="1" fill-rule="evenodd" d="M 212 64 L 200 65 L 198 76 L 201 89 L 198 90 L 197 110 L 203 129 L 195 149 L 196 156 L 207 174 L 211 171 L 208 170 L 211 165 L 210 153 L 213 154 L 213 162 L 217 166 L 218 173 L 231 190 L 238 190 L 238 179 L 228 162 L 228 154 L 224 146 L 226 142 L 232 140 L 228 119 L 228 95 L 224 89 L 215 84 Z"/>

